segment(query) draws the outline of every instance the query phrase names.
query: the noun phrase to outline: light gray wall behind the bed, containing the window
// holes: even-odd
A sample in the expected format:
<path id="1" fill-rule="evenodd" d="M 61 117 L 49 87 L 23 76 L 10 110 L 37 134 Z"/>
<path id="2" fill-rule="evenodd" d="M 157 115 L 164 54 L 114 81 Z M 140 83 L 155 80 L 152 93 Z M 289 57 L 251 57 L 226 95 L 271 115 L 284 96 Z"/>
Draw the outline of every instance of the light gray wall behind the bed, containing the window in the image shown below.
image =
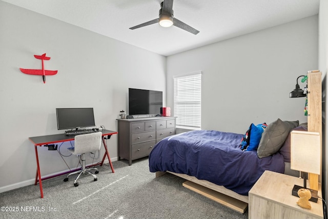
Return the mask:
<path id="1" fill-rule="evenodd" d="M 304 98 L 289 98 L 296 78 L 318 69 L 318 16 L 168 57 L 173 75 L 202 71 L 201 128 L 244 133 L 251 123 L 305 122 Z M 300 86 L 305 86 L 300 83 Z"/>

